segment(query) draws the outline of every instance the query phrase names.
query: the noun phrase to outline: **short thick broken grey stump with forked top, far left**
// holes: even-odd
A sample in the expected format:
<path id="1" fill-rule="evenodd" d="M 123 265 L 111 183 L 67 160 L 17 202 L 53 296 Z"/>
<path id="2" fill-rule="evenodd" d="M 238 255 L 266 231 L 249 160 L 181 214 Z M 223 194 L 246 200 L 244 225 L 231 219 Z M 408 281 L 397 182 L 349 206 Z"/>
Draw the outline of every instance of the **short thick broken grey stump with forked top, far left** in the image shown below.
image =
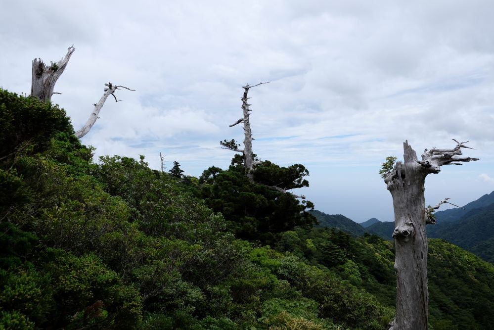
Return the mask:
<path id="1" fill-rule="evenodd" d="M 74 45 L 68 48 L 64 58 L 47 66 L 41 58 L 33 60 L 33 78 L 31 80 L 31 96 L 38 97 L 43 102 L 50 101 L 55 83 L 60 78 L 69 62 L 70 56 L 76 50 Z"/>

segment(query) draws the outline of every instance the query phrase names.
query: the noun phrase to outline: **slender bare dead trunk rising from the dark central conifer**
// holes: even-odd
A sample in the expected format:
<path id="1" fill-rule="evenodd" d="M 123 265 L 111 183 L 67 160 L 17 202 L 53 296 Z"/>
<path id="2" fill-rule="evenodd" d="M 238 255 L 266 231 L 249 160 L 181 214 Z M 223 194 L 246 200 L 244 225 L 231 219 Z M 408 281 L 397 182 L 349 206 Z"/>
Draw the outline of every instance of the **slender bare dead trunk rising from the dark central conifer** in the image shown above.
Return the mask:
<path id="1" fill-rule="evenodd" d="M 254 176 L 252 173 L 252 170 L 254 168 L 255 162 L 254 162 L 254 152 L 252 151 L 252 131 L 250 128 L 250 112 L 252 111 L 249 106 L 252 104 L 249 104 L 247 101 L 250 97 L 247 97 L 247 94 L 249 94 L 249 89 L 263 85 L 263 84 L 268 84 L 269 82 L 266 83 L 259 83 L 257 85 L 251 86 L 249 84 L 243 86 L 242 88 L 244 89 L 244 94 L 242 95 L 242 112 L 243 112 L 243 117 L 234 122 L 233 124 L 229 125 L 229 127 L 233 127 L 237 124 L 243 123 L 244 124 L 244 149 L 240 150 L 238 149 L 238 145 L 235 143 L 234 140 L 232 141 L 223 141 L 220 142 L 226 149 L 230 149 L 233 151 L 237 152 L 242 152 L 244 155 L 244 161 L 245 161 L 245 173 L 247 174 L 247 177 L 251 182 L 254 181 Z"/>

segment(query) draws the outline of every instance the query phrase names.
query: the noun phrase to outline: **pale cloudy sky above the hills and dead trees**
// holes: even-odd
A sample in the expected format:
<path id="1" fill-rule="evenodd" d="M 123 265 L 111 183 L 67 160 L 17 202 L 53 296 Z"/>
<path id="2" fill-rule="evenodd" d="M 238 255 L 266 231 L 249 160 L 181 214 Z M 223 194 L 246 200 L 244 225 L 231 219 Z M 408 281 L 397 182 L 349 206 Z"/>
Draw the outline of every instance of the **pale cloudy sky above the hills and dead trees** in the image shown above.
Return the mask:
<path id="1" fill-rule="evenodd" d="M 108 98 L 82 142 L 101 155 L 145 155 L 185 174 L 226 169 L 243 141 L 240 97 L 253 88 L 253 151 L 303 164 L 315 208 L 392 221 L 378 175 L 407 140 L 424 148 L 470 141 L 480 158 L 426 179 L 426 204 L 464 205 L 494 190 L 494 2 L 491 0 L 3 1 L 0 86 L 31 90 L 31 61 L 75 52 L 52 102 L 78 130 L 104 83 Z M 466 151 L 465 151 L 466 150 Z M 444 209 L 447 207 L 442 207 Z"/>

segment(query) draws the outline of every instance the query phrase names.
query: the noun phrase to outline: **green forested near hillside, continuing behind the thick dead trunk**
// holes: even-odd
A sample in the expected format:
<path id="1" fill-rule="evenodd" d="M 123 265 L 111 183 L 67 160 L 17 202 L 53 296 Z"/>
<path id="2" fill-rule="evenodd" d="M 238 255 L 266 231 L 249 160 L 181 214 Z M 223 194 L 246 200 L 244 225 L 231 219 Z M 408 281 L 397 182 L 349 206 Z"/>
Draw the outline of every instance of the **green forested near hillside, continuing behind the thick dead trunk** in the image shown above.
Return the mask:
<path id="1" fill-rule="evenodd" d="M 92 161 L 64 110 L 0 90 L 0 329 L 383 329 L 393 242 L 314 228 L 303 165 L 200 178 Z M 269 244 L 269 245 L 267 245 Z M 488 329 L 494 267 L 429 254 L 430 324 Z"/>

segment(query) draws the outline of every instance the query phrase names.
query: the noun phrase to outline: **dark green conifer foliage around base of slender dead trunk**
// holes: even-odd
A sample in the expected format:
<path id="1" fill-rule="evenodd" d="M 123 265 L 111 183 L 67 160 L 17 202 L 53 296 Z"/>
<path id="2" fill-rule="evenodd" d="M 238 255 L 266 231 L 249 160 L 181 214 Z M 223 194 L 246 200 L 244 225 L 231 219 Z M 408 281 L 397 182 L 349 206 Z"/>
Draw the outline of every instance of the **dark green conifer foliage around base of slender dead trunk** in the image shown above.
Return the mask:
<path id="1" fill-rule="evenodd" d="M 256 166 L 252 183 L 244 174 L 241 156 L 233 158 L 228 170 L 210 167 L 199 178 L 195 194 L 215 212 L 221 212 L 228 228 L 239 238 L 272 242 L 276 233 L 296 226 L 310 228 L 315 218 L 306 210 L 310 201 L 299 202 L 290 193 L 309 185 L 304 179 L 309 172 L 301 164 L 280 167 L 269 161 Z"/>

